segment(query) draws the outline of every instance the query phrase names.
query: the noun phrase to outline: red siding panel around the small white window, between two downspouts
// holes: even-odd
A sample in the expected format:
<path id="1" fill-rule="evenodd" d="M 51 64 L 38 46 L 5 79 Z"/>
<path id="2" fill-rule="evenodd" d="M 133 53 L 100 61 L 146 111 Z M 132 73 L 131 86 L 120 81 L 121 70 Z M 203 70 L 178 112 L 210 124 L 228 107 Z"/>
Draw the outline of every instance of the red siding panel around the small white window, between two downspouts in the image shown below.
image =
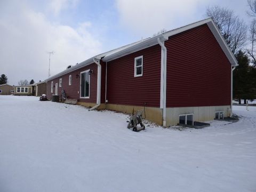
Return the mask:
<path id="1" fill-rule="evenodd" d="M 143 55 L 143 76 L 134 77 L 134 58 Z M 108 103 L 159 107 L 161 47 L 125 55 L 107 63 Z"/>

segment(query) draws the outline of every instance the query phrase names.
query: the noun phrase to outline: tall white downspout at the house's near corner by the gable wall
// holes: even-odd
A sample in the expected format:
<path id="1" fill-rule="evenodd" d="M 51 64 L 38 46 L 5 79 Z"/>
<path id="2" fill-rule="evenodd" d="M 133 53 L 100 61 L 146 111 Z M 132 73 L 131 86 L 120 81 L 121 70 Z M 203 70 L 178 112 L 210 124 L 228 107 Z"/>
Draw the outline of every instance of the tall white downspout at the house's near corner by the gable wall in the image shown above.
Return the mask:
<path id="1" fill-rule="evenodd" d="M 161 50 L 161 93 L 160 93 L 160 108 L 163 108 L 163 126 L 166 126 L 166 59 L 167 49 L 160 38 L 157 38 L 158 44 L 162 47 Z M 162 105 L 162 106 L 161 106 Z"/>

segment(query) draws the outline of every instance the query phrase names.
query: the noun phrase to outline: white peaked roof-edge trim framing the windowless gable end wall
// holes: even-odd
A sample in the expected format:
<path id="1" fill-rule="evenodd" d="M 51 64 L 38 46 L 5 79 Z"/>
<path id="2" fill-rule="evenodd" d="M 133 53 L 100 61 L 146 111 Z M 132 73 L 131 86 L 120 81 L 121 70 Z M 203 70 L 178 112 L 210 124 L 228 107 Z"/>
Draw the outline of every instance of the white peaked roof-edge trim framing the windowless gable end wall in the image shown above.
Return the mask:
<path id="1" fill-rule="evenodd" d="M 219 43 L 222 51 L 226 54 L 226 57 L 228 58 L 229 62 L 231 63 L 231 66 L 237 66 L 237 60 L 235 58 L 235 55 L 230 51 L 225 39 L 223 38 L 223 36 L 221 35 L 217 25 L 214 23 L 212 18 L 207 18 L 201 21 L 197 21 L 195 23 L 192 23 L 190 25 L 184 26 L 184 27 L 180 27 L 177 29 L 173 29 L 171 31 L 168 31 L 164 34 L 165 38 L 169 38 L 173 35 L 182 33 L 183 31 L 189 30 L 189 29 L 193 29 L 195 27 L 199 27 L 201 25 L 207 24 L 207 26 L 210 28 L 210 30 L 212 31 L 212 34 L 214 35 L 215 39 L 217 40 L 217 42 Z"/>

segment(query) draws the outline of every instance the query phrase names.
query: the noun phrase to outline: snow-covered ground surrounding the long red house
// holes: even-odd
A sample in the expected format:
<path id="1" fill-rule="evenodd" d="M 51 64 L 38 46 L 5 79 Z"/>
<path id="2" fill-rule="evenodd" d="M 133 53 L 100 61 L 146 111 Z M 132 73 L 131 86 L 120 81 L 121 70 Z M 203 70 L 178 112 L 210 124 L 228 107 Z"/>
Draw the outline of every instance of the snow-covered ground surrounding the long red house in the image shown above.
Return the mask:
<path id="1" fill-rule="evenodd" d="M 0 191 L 256 191 L 256 107 L 237 123 L 146 131 L 127 115 L 0 96 Z"/>

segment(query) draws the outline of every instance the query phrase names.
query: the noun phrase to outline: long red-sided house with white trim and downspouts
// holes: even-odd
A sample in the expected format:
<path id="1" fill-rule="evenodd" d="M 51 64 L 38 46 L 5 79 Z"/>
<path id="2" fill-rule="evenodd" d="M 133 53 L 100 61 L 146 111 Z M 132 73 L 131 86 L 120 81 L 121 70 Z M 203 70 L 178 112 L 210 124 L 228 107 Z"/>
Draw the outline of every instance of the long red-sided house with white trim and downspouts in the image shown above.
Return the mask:
<path id="1" fill-rule="evenodd" d="M 132 113 L 163 126 L 232 113 L 237 61 L 211 18 L 90 58 L 54 75 L 47 98 L 65 90 L 90 109 Z M 143 113 L 143 115 L 145 115 Z"/>

